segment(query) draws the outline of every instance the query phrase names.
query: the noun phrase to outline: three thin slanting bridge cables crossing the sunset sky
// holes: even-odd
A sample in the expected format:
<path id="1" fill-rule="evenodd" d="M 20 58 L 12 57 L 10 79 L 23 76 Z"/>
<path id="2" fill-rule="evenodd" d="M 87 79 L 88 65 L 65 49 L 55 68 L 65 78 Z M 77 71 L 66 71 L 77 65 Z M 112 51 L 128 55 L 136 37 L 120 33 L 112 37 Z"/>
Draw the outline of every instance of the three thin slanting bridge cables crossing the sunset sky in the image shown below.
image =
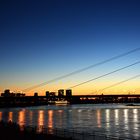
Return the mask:
<path id="1" fill-rule="evenodd" d="M 111 61 L 114 61 L 114 60 L 116 60 L 116 59 L 123 58 L 123 57 L 125 57 L 125 56 L 130 55 L 130 54 L 134 54 L 134 53 L 136 53 L 136 52 L 138 52 L 138 51 L 140 51 L 140 48 L 135 48 L 135 49 L 133 49 L 133 50 L 130 50 L 130 51 L 127 51 L 127 52 L 125 52 L 125 53 L 122 53 L 122 54 L 113 56 L 113 57 L 111 57 L 111 58 L 108 58 L 108 59 L 103 60 L 103 61 L 101 61 L 101 62 L 98 62 L 98 63 L 96 63 L 96 64 L 89 65 L 89 66 L 87 66 L 87 67 L 84 67 L 84 68 L 75 70 L 75 71 L 73 71 L 73 72 L 71 72 L 71 73 L 68 73 L 68 74 L 65 74 L 65 75 L 56 77 L 56 78 L 54 78 L 54 79 L 52 79 L 52 80 L 49 80 L 49 81 L 40 83 L 40 84 L 38 84 L 38 85 L 34 85 L 34 86 L 29 87 L 29 88 L 23 89 L 23 91 L 24 91 L 24 92 L 28 92 L 28 91 L 30 91 L 30 90 L 33 90 L 33 89 L 42 87 L 42 86 L 44 86 L 44 85 L 48 85 L 48 84 L 50 84 L 50 83 L 53 83 L 53 82 L 56 82 L 56 81 L 60 81 L 60 80 L 62 80 L 62 79 L 64 79 L 64 78 L 72 77 L 73 75 L 82 73 L 82 72 L 84 72 L 84 71 L 86 71 L 86 70 L 89 70 L 89 69 L 98 67 L 98 66 L 100 66 L 100 65 L 106 64 L 106 63 L 111 62 Z M 139 61 L 136 61 L 136 62 L 134 62 L 134 63 L 131 63 L 131 64 L 129 64 L 129 65 L 120 67 L 120 68 L 118 68 L 118 69 L 115 69 L 115 70 L 113 70 L 113 71 L 107 72 L 107 73 L 102 74 L 102 75 L 100 75 L 100 76 L 91 78 L 91 79 L 89 79 L 89 80 L 85 80 L 85 81 L 80 82 L 80 83 L 77 83 L 77 84 L 74 84 L 74 85 L 72 85 L 72 86 L 67 87 L 65 90 L 67 90 L 67 89 L 73 89 L 73 88 L 82 86 L 82 85 L 84 85 L 84 84 L 88 84 L 88 83 L 93 82 L 93 81 L 95 81 L 95 80 L 98 80 L 98 79 L 107 77 L 107 76 L 109 76 L 109 75 L 112 75 L 112 74 L 117 73 L 117 72 L 119 72 L 119 71 L 123 71 L 123 70 L 125 70 L 125 69 L 129 69 L 130 67 L 133 67 L 133 66 L 139 65 L 139 64 L 140 64 L 140 60 L 139 60 Z M 103 92 L 104 90 L 106 90 L 106 89 L 112 88 L 112 87 L 114 87 L 114 86 L 123 84 L 123 83 L 125 83 L 125 82 L 131 81 L 131 80 L 136 79 L 136 78 L 139 78 L 139 77 L 140 77 L 140 75 L 137 74 L 137 75 L 135 75 L 135 76 L 133 76 L 133 77 L 129 77 L 128 79 L 124 79 L 123 81 L 120 81 L 120 82 L 118 82 L 118 83 L 114 83 L 114 84 L 112 84 L 112 85 L 109 85 L 109 86 L 107 86 L 107 87 L 104 87 L 104 88 L 102 88 L 102 89 L 99 89 L 98 92 L 102 93 L 102 92 Z"/>

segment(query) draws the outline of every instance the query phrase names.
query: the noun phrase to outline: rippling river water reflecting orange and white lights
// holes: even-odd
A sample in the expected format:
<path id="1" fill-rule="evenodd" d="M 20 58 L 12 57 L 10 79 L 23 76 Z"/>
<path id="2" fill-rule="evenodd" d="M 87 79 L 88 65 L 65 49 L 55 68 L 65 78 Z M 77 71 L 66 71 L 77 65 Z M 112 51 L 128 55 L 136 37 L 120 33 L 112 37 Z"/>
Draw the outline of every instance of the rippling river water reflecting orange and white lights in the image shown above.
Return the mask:
<path id="1" fill-rule="evenodd" d="M 0 109 L 0 120 L 57 129 L 103 133 L 140 139 L 140 106 L 124 104 L 50 105 Z"/>

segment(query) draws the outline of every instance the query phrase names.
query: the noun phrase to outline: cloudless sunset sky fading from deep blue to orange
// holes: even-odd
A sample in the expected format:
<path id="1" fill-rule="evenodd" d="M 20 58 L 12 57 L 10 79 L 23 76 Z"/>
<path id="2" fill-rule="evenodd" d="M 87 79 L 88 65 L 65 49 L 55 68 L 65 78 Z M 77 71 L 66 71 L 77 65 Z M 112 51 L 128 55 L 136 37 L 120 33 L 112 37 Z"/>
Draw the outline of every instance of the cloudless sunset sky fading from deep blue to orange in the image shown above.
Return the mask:
<path id="1" fill-rule="evenodd" d="M 139 0 L 1 0 L 0 93 L 26 88 L 140 47 Z M 67 89 L 140 60 L 140 51 L 28 91 Z M 140 64 L 73 88 L 98 90 L 140 74 Z M 140 93 L 140 77 L 103 91 Z"/>

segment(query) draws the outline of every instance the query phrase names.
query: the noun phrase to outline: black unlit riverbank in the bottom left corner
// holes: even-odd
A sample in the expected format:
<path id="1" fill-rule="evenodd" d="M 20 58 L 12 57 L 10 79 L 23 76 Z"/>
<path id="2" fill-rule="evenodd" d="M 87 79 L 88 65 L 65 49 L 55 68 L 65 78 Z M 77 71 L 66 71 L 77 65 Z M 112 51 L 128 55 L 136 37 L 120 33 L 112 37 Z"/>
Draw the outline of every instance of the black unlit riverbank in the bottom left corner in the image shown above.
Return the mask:
<path id="1" fill-rule="evenodd" d="M 0 121 L 0 139 L 1 140 L 71 140 L 71 138 L 62 138 L 43 132 L 36 132 L 34 128 L 23 127 L 22 129 L 16 123 Z"/>

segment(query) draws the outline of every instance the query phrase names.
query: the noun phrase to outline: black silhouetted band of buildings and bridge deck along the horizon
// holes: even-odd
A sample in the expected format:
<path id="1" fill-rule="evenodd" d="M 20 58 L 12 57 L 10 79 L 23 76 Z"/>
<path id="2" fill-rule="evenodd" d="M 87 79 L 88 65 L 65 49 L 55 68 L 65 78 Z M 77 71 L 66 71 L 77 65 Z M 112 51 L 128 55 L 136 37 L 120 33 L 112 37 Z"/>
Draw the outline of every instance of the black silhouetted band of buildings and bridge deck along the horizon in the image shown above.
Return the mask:
<path id="1" fill-rule="evenodd" d="M 71 89 L 60 89 L 56 92 L 46 91 L 46 95 L 25 96 L 22 93 L 13 93 L 6 89 L 0 96 L 0 107 L 19 107 L 55 104 L 55 101 L 68 101 L 70 104 L 96 104 L 96 103 L 140 103 L 140 94 L 116 95 L 72 95 Z"/>

